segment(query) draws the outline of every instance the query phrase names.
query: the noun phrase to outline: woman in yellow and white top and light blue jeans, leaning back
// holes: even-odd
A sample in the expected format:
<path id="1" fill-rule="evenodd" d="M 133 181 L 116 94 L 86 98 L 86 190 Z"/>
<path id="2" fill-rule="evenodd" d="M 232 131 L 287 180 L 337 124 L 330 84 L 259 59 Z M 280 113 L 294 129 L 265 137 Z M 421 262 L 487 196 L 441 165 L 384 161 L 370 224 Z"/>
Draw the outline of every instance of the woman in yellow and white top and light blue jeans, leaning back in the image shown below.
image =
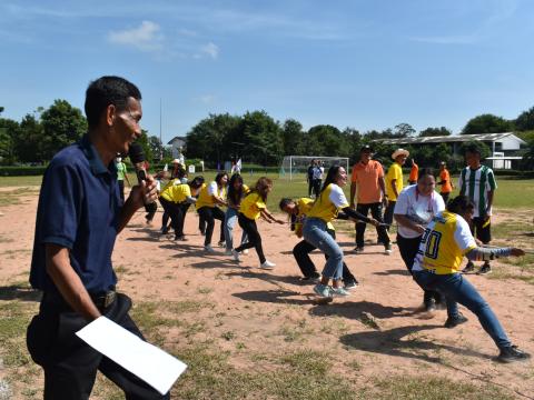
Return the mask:
<path id="1" fill-rule="evenodd" d="M 319 197 L 309 210 L 303 228 L 304 239 L 328 257 L 320 283 L 317 283 L 314 288 L 314 291 L 323 298 L 349 294 L 342 287 L 343 250 L 328 233 L 328 222 L 335 219 L 338 212 L 343 210 L 348 218 L 373 223 L 374 226 L 380 224 L 380 222 L 369 219 L 350 208 L 342 189 L 345 184 L 347 184 L 347 171 L 345 171 L 345 168 L 340 166 L 330 167 Z M 333 280 L 332 287 L 328 286 L 330 279 Z"/>

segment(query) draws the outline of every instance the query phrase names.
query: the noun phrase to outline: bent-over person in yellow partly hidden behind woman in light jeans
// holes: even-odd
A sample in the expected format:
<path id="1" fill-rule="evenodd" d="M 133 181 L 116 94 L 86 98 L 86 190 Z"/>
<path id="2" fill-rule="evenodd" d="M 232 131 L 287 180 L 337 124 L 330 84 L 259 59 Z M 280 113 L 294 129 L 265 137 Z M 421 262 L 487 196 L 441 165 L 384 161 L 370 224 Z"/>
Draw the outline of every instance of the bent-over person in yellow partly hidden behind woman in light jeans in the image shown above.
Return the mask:
<path id="1" fill-rule="evenodd" d="M 303 224 L 306 220 L 306 216 L 314 206 L 314 200 L 310 198 L 300 198 L 297 200 L 284 198 L 280 200 L 279 207 L 280 210 L 286 212 L 291 219 L 291 230 L 295 231 L 295 234 L 298 238 L 303 237 Z M 344 214 L 343 214 L 344 216 Z M 345 216 L 344 216 L 345 217 Z M 342 213 L 337 216 L 338 219 L 342 218 Z M 327 232 L 336 239 L 336 230 L 332 223 L 327 224 Z M 312 243 L 308 243 L 306 240 L 299 241 L 293 248 L 293 256 L 297 261 L 298 268 L 304 274 L 303 281 L 318 280 L 320 274 L 317 272 L 314 262 L 309 258 L 309 253 L 316 250 L 316 247 Z M 345 289 L 354 289 L 358 286 L 358 281 L 355 276 L 353 276 L 345 262 L 343 262 L 343 283 Z"/>

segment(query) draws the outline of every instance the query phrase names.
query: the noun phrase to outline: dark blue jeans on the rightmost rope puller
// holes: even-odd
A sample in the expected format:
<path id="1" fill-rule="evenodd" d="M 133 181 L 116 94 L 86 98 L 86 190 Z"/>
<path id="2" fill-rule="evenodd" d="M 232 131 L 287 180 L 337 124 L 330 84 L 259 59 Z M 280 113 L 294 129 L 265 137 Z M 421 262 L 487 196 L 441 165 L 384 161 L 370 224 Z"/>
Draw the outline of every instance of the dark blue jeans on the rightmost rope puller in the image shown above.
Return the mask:
<path id="1" fill-rule="evenodd" d="M 478 317 L 482 328 L 500 349 L 512 346 L 490 304 L 461 273 L 435 274 L 429 271 L 413 271 L 413 276 L 423 289 L 437 290 L 445 296 L 448 317 L 458 314 L 457 303 L 461 303 Z"/>

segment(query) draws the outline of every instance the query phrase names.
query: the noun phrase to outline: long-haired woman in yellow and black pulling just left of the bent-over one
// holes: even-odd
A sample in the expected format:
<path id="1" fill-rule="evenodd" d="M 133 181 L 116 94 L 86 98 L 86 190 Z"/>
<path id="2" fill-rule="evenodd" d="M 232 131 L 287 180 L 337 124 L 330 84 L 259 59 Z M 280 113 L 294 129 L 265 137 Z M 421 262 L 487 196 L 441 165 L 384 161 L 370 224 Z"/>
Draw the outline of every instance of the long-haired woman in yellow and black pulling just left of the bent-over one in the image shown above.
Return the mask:
<path id="1" fill-rule="evenodd" d="M 239 214 L 237 216 L 237 222 L 239 227 L 247 233 L 248 243 L 243 243 L 238 248 L 231 251 L 234 260 L 240 261 L 239 253 L 246 249 L 256 249 L 259 258 L 260 268 L 274 268 L 276 264 L 265 258 L 264 248 L 261 247 L 261 237 L 256 226 L 256 220 L 261 217 L 267 222 L 285 223 L 283 220 L 276 219 L 267 210 L 266 201 L 267 196 L 273 190 L 273 181 L 269 178 L 261 177 L 256 182 L 253 191 L 243 199 L 239 207 Z"/>

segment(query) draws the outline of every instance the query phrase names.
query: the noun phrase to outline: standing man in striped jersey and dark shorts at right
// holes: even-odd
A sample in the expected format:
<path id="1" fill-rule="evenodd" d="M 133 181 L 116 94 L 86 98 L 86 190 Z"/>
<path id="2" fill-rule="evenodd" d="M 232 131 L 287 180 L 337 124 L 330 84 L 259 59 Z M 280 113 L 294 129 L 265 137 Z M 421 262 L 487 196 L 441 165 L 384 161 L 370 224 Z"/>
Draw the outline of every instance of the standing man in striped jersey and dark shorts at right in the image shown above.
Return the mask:
<path id="1" fill-rule="evenodd" d="M 466 196 L 474 204 L 474 213 L 469 223 L 471 231 L 482 243 L 487 244 L 492 241 L 492 206 L 493 196 L 497 183 L 495 176 L 490 167 L 481 164 L 481 150 L 476 146 L 469 146 L 465 151 L 465 167 L 458 179 L 459 194 Z M 469 273 L 475 270 L 472 260 L 462 272 Z M 492 268 L 490 260 L 484 261 L 477 273 L 490 273 Z"/>

